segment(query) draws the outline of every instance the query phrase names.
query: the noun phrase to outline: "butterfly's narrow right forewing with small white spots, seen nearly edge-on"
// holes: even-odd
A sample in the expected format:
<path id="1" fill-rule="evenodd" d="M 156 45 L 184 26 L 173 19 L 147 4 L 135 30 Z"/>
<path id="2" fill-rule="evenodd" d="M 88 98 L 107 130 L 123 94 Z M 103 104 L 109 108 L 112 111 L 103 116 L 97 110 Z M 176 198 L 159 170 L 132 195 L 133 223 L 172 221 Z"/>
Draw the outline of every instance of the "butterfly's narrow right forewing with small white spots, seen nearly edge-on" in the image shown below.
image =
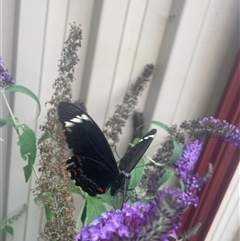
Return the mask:
<path id="1" fill-rule="evenodd" d="M 131 148 L 120 160 L 119 169 L 125 173 L 130 173 L 142 158 L 148 147 L 152 143 L 156 129 L 150 130 L 140 141 Z"/>

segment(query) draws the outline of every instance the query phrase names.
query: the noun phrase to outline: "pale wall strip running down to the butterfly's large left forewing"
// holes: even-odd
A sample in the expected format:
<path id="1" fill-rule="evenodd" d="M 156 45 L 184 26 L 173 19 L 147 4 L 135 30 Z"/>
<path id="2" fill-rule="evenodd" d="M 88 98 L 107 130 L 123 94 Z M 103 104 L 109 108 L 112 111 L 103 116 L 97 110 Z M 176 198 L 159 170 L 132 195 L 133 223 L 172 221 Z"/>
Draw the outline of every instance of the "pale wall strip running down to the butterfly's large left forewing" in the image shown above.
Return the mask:
<path id="1" fill-rule="evenodd" d="M 112 79 L 129 1 L 104 1 L 86 104 L 102 127 L 112 89 Z M 96 108 L 96 103 L 97 107 Z"/>

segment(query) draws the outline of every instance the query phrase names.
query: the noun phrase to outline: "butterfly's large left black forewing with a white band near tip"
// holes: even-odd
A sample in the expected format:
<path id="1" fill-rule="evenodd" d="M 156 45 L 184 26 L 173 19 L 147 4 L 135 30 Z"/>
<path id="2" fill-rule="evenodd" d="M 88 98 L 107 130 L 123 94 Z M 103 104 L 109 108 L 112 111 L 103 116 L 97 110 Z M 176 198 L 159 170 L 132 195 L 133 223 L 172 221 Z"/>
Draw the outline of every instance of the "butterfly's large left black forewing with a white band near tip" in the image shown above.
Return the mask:
<path id="1" fill-rule="evenodd" d="M 65 129 L 66 141 L 74 155 L 87 157 L 118 174 L 112 150 L 94 120 L 82 109 L 69 102 L 58 104 L 59 120 Z"/>

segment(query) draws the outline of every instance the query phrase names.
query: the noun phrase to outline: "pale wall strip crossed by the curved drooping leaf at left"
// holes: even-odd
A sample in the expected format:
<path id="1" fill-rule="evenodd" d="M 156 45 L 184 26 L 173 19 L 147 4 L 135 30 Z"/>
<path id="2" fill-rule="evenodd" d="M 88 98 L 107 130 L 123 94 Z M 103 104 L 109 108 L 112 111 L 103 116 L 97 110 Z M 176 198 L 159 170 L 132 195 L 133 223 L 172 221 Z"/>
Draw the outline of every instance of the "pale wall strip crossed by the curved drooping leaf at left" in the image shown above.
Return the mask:
<path id="1" fill-rule="evenodd" d="M 46 2 L 22 1 L 19 9 L 16 9 L 16 29 L 18 36 L 16 47 L 14 48 L 16 61 L 16 83 L 25 85 L 34 93 L 39 92 L 39 75 L 41 70 L 42 46 L 45 26 Z M 13 110 L 20 123 L 25 123 L 31 128 L 36 125 L 36 103 L 29 97 L 17 93 L 14 96 Z M 28 198 L 32 194 L 29 192 L 30 183 L 25 183 L 23 166 L 26 165 L 19 153 L 19 147 L 16 145 L 18 139 L 13 131 L 11 142 L 11 155 L 7 160 L 10 163 L 10 175 L 8 176 L 9 192 L 7 202 L 7 215 L 11 217 L 16 215 L 23 206 L 28 204 Z M 27 215 L 24 214 L 14 222 L 14 239 L 25 240 L 25 228 L 27 224 Z M 38 223 L 38 213 L 35 213 L 36 226 Z M 33 227 L 34 229 L 34 227 Z M 37 230 L 35 230 L 36 232 Z M 36 234 L 35 234 L 36 237 Z M 8 240 L 10 236 L 8 236 Z"/>

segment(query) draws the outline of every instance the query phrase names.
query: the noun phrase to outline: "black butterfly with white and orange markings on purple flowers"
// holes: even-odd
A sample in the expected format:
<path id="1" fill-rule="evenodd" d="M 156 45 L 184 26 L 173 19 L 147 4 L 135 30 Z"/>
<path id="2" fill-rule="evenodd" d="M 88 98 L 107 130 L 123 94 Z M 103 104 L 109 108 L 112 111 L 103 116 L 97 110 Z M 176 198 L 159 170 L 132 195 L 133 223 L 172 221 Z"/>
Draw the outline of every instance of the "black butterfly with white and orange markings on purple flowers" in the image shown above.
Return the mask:
<path id="1" fill-rule="evenodd" d="M 149 131 L 120 160 L 119 169 L 112 150 L 98 125 L 82 109 L 70 102 L 58 104 L 59 120 L 74 156 L 67 160 L 67 170 L 75 185 L 90 196 L 104 194 L 111 187 L 114 196 L 125 184 L 126 177 L 151 144 L 156 130 Z M 120 170 L 120 171 L 119 171 Z"/>

